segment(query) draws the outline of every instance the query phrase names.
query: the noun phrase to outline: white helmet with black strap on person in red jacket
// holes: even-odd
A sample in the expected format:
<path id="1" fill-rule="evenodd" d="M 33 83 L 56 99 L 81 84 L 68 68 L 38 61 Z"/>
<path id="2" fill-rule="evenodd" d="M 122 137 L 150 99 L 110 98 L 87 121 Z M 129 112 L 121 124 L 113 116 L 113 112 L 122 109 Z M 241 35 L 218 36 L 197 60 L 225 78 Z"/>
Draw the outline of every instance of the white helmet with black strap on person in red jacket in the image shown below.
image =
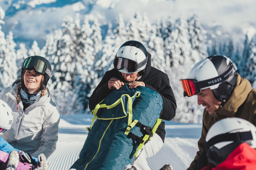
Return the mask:
<path id="1" fill-rule="evenodd" d="M 212 125 L 205 138 L 208 162 L 217 166 L 241 143 L 256 148 L 256 127 L 241 118 L 225 118 Z"/>

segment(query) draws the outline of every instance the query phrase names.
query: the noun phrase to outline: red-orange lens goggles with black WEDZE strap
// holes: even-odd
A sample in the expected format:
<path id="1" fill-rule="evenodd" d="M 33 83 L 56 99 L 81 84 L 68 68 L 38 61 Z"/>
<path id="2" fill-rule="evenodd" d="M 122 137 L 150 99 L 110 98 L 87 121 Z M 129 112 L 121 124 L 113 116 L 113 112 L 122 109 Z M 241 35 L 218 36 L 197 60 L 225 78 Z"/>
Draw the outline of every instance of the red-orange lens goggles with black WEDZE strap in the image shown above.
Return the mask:
<path id="1" fill-rule="evenodd" d="M 200 89 L 202 88 L 216 85 L 226 81 L 230 76 L 236 73 L 236 70 L 236 65 L 232 63 L 231 67 L 229 67 L 227 71 L 225 71 L 223 74 L 215 78 L 210 78 L 203 81 L 197 81 L 196 79 L 180 79 L 184 92 L 184 97 L 196 95 L 201 91 Z"/>

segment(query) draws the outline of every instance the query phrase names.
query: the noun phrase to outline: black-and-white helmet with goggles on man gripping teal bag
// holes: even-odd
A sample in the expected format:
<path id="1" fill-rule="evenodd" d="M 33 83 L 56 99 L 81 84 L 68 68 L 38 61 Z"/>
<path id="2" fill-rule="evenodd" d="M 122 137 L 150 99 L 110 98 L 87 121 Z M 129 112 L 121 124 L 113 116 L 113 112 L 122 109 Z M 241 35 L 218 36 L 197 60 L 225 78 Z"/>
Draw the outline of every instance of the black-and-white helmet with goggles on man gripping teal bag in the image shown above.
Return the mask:
<path id="1" fill-rule="evenodd" d="M 114 68 L 122 73 L 136 73 L 146 68 L 148 53 L 138 41 L 127 41 L 117 51 Z"/>

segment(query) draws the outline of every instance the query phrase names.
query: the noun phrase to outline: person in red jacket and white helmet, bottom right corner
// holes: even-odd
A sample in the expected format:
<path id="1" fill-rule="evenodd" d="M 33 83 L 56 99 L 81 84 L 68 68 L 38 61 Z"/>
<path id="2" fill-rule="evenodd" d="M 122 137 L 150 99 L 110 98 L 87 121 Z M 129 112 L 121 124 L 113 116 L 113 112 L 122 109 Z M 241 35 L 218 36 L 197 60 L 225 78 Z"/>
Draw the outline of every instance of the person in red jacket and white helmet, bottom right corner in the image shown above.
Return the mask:
<path id="1" fill-rule="evenodd" d="M 208 164 L 198 169 L 255 169 L 255 149 L 256 127 L 251 122 L 235 117 L 222 119 L 214 123 L 206 135 Z"/>

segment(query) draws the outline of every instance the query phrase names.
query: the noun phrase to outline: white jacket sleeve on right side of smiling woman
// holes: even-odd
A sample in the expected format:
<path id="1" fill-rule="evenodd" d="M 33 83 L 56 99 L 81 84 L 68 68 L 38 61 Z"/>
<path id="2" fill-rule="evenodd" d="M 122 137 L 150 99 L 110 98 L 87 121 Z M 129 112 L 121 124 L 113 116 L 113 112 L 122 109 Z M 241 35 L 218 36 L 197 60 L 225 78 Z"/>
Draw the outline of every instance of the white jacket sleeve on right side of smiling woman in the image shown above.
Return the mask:
<path id="1" fill-rule="evenodd" d="M 43 123 L 43 141 L 41 147 L 31 156 L 37 157 L 43 153 L 48 157 L 55 151 L 58 140 L 58 125 L 60 122 L 60 114 L 57 109 Z"/>

